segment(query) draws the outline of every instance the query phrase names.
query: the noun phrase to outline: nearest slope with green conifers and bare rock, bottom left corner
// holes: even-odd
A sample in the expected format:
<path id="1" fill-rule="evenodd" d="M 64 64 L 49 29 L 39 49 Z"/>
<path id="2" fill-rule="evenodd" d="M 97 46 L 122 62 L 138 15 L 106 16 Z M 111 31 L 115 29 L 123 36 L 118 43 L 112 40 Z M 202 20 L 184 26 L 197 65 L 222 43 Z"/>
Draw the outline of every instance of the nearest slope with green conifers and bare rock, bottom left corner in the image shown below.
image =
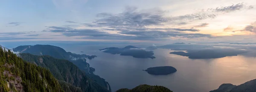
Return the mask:
<path id="1" fill-rule="evenodd" d="M 0 92 L 64 92 L 51 72 L 0 48 Z"/>

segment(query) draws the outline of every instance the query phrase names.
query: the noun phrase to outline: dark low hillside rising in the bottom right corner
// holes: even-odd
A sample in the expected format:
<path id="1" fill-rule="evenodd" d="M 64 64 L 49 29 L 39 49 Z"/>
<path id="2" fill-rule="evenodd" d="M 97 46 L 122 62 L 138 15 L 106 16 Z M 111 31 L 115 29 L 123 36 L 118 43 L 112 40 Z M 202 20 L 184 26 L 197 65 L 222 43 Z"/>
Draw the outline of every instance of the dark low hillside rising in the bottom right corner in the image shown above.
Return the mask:
<path id="1" fill-rule="evenodd" d="M 241 85 L 222 84 L 218 89 L 210 92 L 256 92 L 256 79 Z"/>

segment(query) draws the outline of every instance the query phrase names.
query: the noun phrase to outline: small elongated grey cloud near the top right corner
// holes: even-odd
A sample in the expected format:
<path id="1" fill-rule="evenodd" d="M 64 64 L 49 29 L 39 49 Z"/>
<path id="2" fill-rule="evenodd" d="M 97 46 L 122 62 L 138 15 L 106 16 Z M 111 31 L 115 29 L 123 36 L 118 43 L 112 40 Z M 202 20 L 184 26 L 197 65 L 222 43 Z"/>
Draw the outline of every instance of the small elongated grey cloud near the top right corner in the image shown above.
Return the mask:
<path id="1" fill-rule="evenodd" d="M 233 4 L 231 6 L 208 8 L 207 11 L 228 13 L 228 12 L 239 11 L 243 9 L 251 9 L 251 8 L 253 8 L 253 6 L 246 6 L 246 4 L 244 3 L 238 3 L 238 4 Z"/>

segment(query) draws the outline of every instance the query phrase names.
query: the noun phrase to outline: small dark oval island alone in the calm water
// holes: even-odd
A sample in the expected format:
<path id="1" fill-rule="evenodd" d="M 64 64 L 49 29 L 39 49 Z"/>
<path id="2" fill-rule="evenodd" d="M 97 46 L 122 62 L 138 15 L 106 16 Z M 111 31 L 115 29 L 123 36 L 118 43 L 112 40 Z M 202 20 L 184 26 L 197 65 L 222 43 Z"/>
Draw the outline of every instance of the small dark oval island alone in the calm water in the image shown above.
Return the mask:
<path id="1" fill-rule="evenodd" d="M 164 67 L 150 67 L 144 71 L 148 72 L 151 75 L 168 75 L 176 72 L 177 70 L 171 66 L 164 66 Z"/>

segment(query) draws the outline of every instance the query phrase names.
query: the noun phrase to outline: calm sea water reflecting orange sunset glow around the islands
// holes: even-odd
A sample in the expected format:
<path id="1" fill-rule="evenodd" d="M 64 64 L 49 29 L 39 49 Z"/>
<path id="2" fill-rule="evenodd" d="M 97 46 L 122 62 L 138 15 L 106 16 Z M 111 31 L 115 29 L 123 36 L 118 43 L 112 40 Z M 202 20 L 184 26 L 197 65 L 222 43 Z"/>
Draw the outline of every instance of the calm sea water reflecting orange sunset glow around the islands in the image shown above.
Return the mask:
<path id="1" fill-rule="evenodd" d="M 124 47 L 125 45 L 111 45 Z M 157 49 L 156 59 L 137 59 L 131 56 L 112 55 L 98 49 L 111 46 L 61 46 L 72 53 L 96 55 L 87 62 L 96 69 L 95 74 L 105 78 L 112 91 L 134 88 L 140 84 L 166 86 L 174 92 L 209 92 L 224 83 L 242 84 L 256 78 L 256 59 L 229 56 L 219 59 L 188 59 L 169 54 L 173 50 Z M 135 45 L 137 46 L 137 45 Z M 148 67 L 173 66 L 177 72 L 170 75 L 150 75 Z"/>

